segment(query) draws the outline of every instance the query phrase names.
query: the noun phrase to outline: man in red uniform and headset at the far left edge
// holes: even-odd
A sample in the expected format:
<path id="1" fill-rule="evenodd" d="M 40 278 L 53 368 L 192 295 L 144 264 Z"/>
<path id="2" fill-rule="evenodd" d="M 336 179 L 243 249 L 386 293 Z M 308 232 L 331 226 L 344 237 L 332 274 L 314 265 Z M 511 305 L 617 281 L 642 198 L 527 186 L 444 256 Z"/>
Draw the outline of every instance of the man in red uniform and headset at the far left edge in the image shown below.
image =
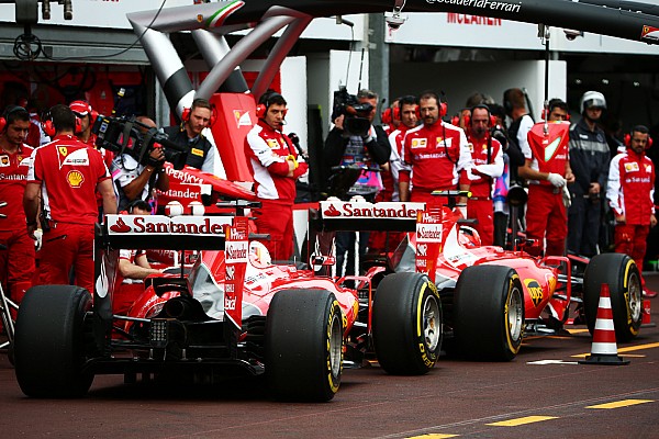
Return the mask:
<path id="1" fill-rule="evenodd" d="M 25 229 L 23 193 L 33 148 L 24 140 L 30 131 L 30 113 L 10 105 L 0 119 L 0 282 L 10 297 L 20 303 L 32 286 L 34 240 Z M 40 232 L 41 233 L 41 232 Z M 38 233 L 37 233 L 38 234 Z"/>

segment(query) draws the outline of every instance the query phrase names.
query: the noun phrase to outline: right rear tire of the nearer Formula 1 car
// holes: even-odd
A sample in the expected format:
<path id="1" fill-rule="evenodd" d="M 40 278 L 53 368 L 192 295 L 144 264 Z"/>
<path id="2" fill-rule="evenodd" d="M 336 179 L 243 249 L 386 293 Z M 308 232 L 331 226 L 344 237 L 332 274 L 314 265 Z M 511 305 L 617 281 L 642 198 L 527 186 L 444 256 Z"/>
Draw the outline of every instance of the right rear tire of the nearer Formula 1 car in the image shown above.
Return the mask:
<path id="1" fill-rule="evenodd" d="M 277 399 L 325 402 L 343 372 L 344 322 L 325 290 L 286 290 L 266 318 L 266 380 Z"/>

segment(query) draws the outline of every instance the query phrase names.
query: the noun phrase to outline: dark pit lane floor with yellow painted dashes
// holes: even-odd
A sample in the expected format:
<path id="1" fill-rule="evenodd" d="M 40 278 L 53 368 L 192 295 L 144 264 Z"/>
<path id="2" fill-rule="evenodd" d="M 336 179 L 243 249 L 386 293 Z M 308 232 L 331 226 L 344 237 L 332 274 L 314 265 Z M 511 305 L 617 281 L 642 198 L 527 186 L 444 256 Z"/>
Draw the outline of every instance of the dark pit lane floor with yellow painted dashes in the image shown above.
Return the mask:
<path id="1" fill-rule="evenodd" d="M 647 277 L 659 290 L 659 273 Z M 651 300 L 654 323 L 659 299 Z M 582 365 L 583 326 L 528 338 L 509 363 L 443 357 L 425 376 L 346 370 L 327 404 L 270 401 L 263 383 L 124 385 L 97 376 L 82 399 L 31 399 L 0 354 L 2 438 L 659 438 L 659 328 L 618 344 L 628 365 Z"/>

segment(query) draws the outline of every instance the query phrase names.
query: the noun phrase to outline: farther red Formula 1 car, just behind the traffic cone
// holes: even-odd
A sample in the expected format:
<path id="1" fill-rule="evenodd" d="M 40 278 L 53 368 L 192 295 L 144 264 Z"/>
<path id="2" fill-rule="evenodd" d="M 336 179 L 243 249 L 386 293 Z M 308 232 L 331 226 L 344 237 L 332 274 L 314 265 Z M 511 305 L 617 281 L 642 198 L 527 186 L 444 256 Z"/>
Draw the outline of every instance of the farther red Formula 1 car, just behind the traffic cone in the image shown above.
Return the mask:
<path id="1" fill-rule="evenodd" d="M 459 193 L 444 194 L 450 199 Z M 396 221 L 406 225 L 392 226 Z M 517 354 L 525 335 L 556 334 L 571 317 L 581 318 L 592 333 L 601 286 L 606 283 L 617 339 L 628 341 L 638 335 L 640 275 L 627 255 L 595 256 L 585 266 L 584 274 L 578 275 L 573 274 L 578 271 L 573 267 L 574 262 L 579 263 L 577 258 L 535 258 L 523 250 L 481 246 L 478 233 L 468 224 L 458 211 L 448 206 L 426 210 L 423 203 L 335 200 L 321 203 L 315 229 L 410 230 L 415 227 L 416 233 L 407 234 L 396 251 L 387 256 L 387 263 L 380 260 L 367 271 L 367 278 L 377 286 L 373 330 L 403 308 L 393 306 L 383 313 L 381 303 L 404 302 L 402 291 L 426 296 L 431 293 L 431 297 L 438 299 L 428 301 L 426 297 L 417 304 L 420 308 L 434 307 L 435 314 L 443 312 L 447 350 L 472 359 L 506 361 Z M 327 246 L 316 245 L 316 248 L 327 251 Z M 424 283 L 428 279 L 432 282 Z M 390 348 L 378 344 L 377 338 L 375 346 L 379 359 Z M 389 358 L 380 359 L 386 369 L 393 368 L 387 361 Z"/>

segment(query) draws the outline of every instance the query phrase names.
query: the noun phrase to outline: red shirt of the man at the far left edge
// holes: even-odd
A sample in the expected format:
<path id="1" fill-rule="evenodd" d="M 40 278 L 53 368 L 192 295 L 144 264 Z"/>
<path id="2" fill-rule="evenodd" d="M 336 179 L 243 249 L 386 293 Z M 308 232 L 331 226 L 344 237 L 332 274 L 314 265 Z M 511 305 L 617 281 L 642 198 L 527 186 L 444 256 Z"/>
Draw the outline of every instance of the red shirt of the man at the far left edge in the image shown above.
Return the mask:
<path id="1" fill-rule="evenodd" d="M 25 212 L 23 211 L 23 192 L 27 183 L 27 170 L 34 148 L 23 145 L 14 154 L 0 149 L 0 201 L 7 206 L 0 213 L 0 228 L 18 230 L 25 228 Z"/>

